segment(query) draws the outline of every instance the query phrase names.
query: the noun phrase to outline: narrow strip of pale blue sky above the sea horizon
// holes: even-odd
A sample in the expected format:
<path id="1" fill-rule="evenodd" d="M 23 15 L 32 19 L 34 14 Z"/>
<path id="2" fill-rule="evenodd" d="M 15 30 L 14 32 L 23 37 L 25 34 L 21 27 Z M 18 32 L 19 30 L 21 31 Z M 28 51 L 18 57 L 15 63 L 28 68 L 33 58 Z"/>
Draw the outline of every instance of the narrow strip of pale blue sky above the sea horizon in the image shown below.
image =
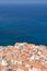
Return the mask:
<path id="1" fill-rule="evenodd" d="M 0 0 L 0 3 L 47 3 L 47 0 Z"/>

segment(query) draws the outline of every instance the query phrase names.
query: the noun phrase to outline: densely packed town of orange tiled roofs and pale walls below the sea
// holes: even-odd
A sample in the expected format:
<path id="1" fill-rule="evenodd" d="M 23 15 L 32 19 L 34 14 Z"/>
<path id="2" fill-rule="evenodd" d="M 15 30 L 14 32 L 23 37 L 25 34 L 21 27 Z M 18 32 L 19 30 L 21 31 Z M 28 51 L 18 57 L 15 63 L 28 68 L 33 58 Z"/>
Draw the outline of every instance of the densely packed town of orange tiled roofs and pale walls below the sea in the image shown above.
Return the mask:
<path id="1" fill-rule="evenodd" d="M 1 47 L 0 71 L 9 68 L 13 71 L 47 71 L 47 47 L 27 43 Z"/>

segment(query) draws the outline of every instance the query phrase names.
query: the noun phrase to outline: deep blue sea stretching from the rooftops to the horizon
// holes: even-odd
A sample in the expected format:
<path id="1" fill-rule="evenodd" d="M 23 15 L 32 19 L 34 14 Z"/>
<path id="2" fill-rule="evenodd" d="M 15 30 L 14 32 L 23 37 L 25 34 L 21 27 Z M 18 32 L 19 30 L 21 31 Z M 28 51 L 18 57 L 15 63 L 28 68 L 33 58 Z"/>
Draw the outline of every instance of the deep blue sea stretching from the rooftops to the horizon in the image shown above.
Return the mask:
<path id="1" fill-rule="evenodd" d="M 47 46 L 47 4 L 0 4 L 0 46 Z"/>

